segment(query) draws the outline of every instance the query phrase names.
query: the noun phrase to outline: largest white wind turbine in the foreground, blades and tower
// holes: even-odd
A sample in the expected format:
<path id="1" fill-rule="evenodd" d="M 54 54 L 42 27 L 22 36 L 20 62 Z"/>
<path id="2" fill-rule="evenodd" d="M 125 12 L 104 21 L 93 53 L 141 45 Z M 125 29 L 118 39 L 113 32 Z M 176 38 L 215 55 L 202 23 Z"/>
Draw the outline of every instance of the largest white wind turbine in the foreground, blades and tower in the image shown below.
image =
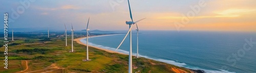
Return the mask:
<path id="1" fill-rule="evenodd" d="M 132 16 L 132 11 L 131 11 L 131 7 L 130 7 L 130 2 L 128 0 L 128 4 L 129 4 L 129 10 L 130 10 L 130 17 L 132 19 L 132 21 L 126 21 L 126 25 L 129 25 L 129 31 L 127 32 L 127 34 L 125 35 L 125 37 L 123 38 L 122 42 L 119 44 L 119 46 L 116 48 L 116 50 L 121 46 L 121 44 L 123 43 L 123 41 L 125 40 L 125 38 L 127 37 L 127 35 L 130 33 L 130 51 L 129 51 L 129 73 L 132 73 L 133 72 L 133 68 L 132 68 L 132 27 L 135 23 L 139 22 L 140 20 L 143 20 L 143 19 L 140 19 L 138 21 L 133 21 L 133 16 Z"/>

